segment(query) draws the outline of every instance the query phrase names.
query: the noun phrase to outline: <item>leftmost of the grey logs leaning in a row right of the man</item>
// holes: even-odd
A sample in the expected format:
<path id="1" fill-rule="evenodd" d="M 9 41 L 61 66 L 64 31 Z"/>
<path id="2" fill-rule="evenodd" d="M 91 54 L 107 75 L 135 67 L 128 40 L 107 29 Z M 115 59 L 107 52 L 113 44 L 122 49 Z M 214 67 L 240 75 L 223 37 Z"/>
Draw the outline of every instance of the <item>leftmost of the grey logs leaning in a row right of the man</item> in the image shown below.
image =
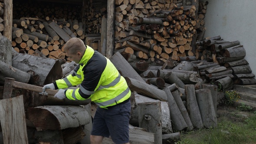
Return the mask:
<path id="1" fill-rule="evenodd" d="M 169 104 L 170 109 L 170 117 L 173 121 L 173 128 L 177 131 L 181 131 L 187 128 L 187 123 L 181 115 L 181 111 L 179 110 L 177 103 L 174 100 L 173 95 L 171 94 L 170 87 L 164 88 L 163 91 L 167 95 L 167 102 Z"/>

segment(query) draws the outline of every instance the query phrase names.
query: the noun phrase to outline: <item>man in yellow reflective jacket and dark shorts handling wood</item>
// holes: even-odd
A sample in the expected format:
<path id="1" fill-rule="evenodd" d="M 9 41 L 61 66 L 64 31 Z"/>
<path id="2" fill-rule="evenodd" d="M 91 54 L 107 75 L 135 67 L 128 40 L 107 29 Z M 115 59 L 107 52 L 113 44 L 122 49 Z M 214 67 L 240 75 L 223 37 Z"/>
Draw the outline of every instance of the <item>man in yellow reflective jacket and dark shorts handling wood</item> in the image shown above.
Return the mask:
<path id="1" fill-rule="evenodd" d="M 91 144 L 101 144 L 103 137 L 111 136 L 116 144 L 129 144 L 129 119 L 131 112 L 128 85 L 112 62 L 79 38 L 71 38 L 64 48 L 67 56 L 78 63 L 66 78 L 43 87 L 59 89 L 54 97 L 59 99 L 91 101 L 98 105 L 90 136 Z M 67 89 L 79 85 L 77 89 Z"/>

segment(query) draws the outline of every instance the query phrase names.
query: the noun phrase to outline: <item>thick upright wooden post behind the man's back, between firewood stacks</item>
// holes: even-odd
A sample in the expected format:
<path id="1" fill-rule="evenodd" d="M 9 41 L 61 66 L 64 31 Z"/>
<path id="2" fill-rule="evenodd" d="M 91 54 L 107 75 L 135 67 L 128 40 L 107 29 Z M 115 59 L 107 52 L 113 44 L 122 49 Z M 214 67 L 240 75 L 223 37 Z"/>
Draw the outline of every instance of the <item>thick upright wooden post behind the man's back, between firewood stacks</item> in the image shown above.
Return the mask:
<path id="1" fill-rule="evenodd" d="M 107 47 L 106 57 L 110 58 L 114 54 L 115 48 L 115 0 L 108 0 L 108 24 L 107 24 Z"/>

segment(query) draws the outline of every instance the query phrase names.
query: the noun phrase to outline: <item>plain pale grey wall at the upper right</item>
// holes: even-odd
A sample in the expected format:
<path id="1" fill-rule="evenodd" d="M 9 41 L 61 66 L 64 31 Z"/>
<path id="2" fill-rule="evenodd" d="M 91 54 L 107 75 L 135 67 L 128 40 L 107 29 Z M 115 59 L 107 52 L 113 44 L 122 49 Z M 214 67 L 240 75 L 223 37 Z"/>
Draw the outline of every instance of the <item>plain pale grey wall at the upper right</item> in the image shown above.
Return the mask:
<path id="1" fill-rule="evenodd" d="M 207 1 L 204 37 L 221 36 L 225 41 L 240 41 L 246 49 L 245 59 L 256 75 L 256 0 Z"/>

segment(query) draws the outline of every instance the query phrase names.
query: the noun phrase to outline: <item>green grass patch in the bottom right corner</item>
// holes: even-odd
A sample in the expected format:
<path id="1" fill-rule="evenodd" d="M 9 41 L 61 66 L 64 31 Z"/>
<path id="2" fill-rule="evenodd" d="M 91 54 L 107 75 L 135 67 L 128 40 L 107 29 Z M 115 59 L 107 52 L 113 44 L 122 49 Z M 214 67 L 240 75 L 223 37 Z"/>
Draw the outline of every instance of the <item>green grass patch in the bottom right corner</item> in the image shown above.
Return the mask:
<path id="1" fill-rule="evenodd" d="M 242 121 L 223 117 L 216 128 L 181 132 L 175 144 L 256 144 L 256 114 Z"/>

